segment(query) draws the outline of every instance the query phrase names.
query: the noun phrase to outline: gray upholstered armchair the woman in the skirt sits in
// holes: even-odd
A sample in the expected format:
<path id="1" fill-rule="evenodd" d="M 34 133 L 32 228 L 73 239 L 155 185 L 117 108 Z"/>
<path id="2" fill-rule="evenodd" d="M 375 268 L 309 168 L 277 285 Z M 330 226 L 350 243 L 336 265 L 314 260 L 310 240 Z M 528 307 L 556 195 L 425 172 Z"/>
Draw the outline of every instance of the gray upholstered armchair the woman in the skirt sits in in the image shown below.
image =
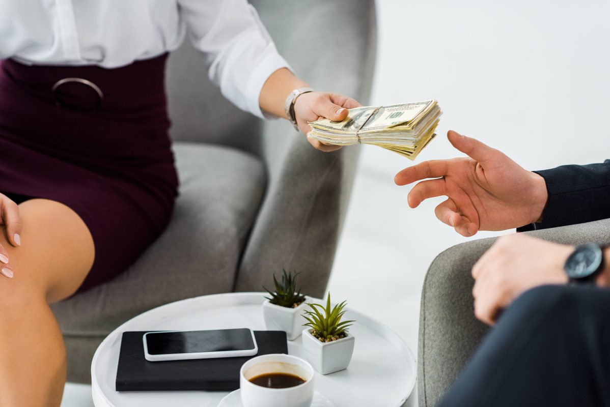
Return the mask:
<path id="1" fill-rule="evenodd" d="M 252 1 L 279 51 L 312 87 L 368 102 L 375 67 L 373 0 Z M 306 292 L 328 282 L 357 150 L 324 154 L 285 121 L 225 101 L 190 44 L 168 62 L 181 181 L 169 227 L 126 272 L 52 306 L 68 380 L 88 383 L 93 353 L 118 325 L 188 297 L 260 291 L 282 267 Z"/>

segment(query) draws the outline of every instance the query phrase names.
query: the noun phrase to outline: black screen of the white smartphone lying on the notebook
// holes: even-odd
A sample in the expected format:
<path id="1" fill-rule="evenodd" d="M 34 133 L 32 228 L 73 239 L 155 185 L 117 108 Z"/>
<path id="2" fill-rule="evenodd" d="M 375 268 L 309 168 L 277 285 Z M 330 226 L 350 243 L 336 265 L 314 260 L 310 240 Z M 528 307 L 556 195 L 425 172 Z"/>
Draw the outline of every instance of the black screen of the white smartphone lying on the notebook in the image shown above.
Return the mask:
<path id="1" fill-rule="evenodd" d="M 214 331 L 155 332 L 146 334 L 150 355 L 224 352 L 254 349 L 252 331 L 246 328 Z"/>

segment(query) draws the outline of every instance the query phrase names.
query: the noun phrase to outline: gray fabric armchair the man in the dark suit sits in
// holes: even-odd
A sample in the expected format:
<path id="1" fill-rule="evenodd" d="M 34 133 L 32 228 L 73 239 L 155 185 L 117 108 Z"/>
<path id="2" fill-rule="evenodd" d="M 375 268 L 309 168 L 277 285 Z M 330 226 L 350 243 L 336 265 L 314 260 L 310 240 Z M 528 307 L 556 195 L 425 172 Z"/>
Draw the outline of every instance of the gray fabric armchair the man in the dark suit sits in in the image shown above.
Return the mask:
<path id="1" fill-rule="evenodd" d="M 610 244 L 610 219 L 525 232 L 548 241 Z M 422 291 L 418 344 L 420 407 L 435 406 L 475 352 L 487 325 L 475 319 L 472 266 L 495 239 L 470 241 L 440 253 Z"/>

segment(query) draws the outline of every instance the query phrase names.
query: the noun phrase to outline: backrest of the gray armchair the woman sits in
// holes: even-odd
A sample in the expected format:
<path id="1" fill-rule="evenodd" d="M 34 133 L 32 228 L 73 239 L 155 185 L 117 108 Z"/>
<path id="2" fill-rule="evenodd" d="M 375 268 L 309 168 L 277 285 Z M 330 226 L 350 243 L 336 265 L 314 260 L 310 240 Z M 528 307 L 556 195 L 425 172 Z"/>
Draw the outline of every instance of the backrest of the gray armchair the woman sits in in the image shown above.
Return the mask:
<path id="1" fill-rule="evenodd" d="M 350 66 L 350 74 L 343 74 L 340 66 L 329 66 L 321 49 L 332 49 L 340 59 L 351 49 L 342 46 L 343 41 L 375 35 L 374 0 L 250 2 L 280 54 L 310 85 L 339 93 L 362 87 L 359 95 L 351 96 L 368 99 L 368 80 L 361 86 L 351 82 L 367 77 L 371 61 L 360 60 L 358 66 Z M 374 60 L 375 55 L 368 57 Z M 345 55 L 346 62 L 353 63 L 353 59 L 353 55 Z M 174 140 L 224 144 L 260 154 L 264 122 L 224 99 L 208 79 L 203 57 L 188 40 L 170 56 L 167 87 Z"/>

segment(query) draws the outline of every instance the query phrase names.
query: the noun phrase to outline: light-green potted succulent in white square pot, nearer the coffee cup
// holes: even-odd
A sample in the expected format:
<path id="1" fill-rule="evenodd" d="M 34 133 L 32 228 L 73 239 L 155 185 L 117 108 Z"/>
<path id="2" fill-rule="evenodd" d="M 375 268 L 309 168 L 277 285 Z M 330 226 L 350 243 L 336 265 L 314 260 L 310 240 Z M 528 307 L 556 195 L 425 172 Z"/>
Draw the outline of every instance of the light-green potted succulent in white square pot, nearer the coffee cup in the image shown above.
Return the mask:
<path id="1" fill-rule="evenodd" d="M 328 293 L 326 307 L 320 304 L 307 305 L 307 324 L 303 330 L 305 358 L 315 370 L 327 375 L 346 369 L 354 353 L 354 336 L 348 333 L 353 320 L 341 320 L 347 311 L 345 301 L 331 308 L 331 293 Z M 319 308 L 319 310 L 318 310 Z"/>

